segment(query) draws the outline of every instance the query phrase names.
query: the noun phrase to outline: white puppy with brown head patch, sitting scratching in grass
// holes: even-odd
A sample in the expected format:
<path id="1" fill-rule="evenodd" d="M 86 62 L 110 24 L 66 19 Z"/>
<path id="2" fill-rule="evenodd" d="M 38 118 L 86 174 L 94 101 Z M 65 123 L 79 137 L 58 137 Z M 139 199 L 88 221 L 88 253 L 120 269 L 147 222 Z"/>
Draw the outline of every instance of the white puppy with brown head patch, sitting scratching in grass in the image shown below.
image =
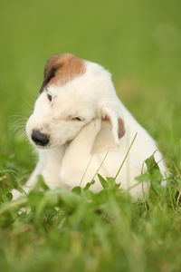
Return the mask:
<path id="1" fill-rule="evenodd" d="M 39 157 L 26 191 L 39 174 L 51 189 L 85 186 L 93 179 L 91 189 L 100 190 L 97 173 L 115 177 L 138 132 L 117 177 L 120 188 L 128 189 L 137 182 L 144 160 L 157 150 L 156 142 L 119 101 L 110 73 L 71 53 L 53 55 L 46 64 L 26 132 Z M 161 160 L 159 151 L 155 157 Z M 163 161 L 159 167 L 164 172 Z M 141 197 L 141 184 L 130 193 Z"/>

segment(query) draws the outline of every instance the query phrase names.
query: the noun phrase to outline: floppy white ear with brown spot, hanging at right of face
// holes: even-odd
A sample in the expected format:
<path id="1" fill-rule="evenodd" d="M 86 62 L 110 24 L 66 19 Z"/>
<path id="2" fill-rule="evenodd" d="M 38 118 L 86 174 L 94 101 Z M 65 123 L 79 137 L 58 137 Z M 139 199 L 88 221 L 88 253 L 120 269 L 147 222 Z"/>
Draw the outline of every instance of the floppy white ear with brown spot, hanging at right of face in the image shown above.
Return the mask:
<path id="1" fill-rule="evenodd" d="M 123 117 L 117 110 L 117 106 L 103 105 L 101 107 L 101 119 L 103 121 L 110 121 L 114 141 L 119 145 L 119 139 L 125 135 L 126 131 Z"/>

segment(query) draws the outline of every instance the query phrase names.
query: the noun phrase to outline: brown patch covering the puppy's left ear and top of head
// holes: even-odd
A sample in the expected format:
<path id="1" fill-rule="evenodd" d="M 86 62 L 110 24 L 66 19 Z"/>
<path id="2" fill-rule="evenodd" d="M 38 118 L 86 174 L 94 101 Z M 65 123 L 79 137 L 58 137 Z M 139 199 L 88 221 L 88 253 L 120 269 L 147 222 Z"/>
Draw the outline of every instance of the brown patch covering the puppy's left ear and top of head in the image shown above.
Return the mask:
<path id="1" fill-rule="evenodd" d="M 43 84 L 40 92 L 47 84 L 64 85 L 86 72 L 85 63 L 71 53 L 54 54 L 44 68 Z"/>

